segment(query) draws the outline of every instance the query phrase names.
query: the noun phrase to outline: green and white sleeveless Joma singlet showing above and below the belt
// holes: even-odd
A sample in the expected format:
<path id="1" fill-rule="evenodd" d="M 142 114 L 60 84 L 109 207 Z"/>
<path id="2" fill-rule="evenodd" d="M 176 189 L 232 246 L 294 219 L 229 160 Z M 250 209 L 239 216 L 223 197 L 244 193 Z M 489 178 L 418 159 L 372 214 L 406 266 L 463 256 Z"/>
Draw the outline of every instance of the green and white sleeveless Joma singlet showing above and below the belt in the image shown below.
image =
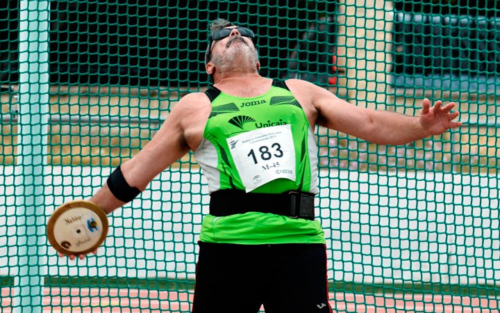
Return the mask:
<path id="1" fill-rule="evenodd" d="M 258 97 L 233 97 L 217 88 L 206 94 L 212 112 L 194 157 L 209 193 L 317 193 L 317 145 L 299 102 L 283 81 Z M 234 203 L 238 206 L 238 203 Z M 205 216 L 200 240 L 212 243 L 325 243 L 317 220 L 247 212 Z"/>

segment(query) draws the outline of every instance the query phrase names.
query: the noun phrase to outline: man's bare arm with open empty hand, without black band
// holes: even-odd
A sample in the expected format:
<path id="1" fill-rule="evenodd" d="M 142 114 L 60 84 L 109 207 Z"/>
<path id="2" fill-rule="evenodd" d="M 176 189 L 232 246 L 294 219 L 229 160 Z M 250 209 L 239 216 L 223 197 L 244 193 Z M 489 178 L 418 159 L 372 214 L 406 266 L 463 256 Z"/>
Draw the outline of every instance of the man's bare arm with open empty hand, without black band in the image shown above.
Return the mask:
<path id="1" fill-rule="evenodd" d="M 461 125 L 453 122 L 458 116 L 458 112 L 450 113 L 455 106 L 453 102 L 442 106 L 437 101 L 431 107 L 428 99 L 424 99 L 420 115 L 409 116 L 354 106 L 306 81 L 291 80 L 287 84 L 294 95 L 297 93 L 301 104 L 315 110 L 316 124 L 371 143 L 402 145 Z"/>

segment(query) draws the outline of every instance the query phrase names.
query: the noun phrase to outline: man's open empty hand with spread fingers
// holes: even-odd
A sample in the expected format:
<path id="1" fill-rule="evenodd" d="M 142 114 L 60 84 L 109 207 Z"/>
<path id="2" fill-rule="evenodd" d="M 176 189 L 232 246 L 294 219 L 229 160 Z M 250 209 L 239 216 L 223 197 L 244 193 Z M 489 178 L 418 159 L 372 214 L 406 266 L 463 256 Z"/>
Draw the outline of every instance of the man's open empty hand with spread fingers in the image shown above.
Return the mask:
<path id="1" fill-rule="evenodd" d="M 442 106 L 441 100 L 437 100 L 431 107 L 429 99 L 424 99 L 420 111 L 420 125 L 431 135 L 440 135 L 450 128 L 460 127 L 462 122 L 453 121 L 460 113 L 458 111 L 450 113 L 453 107 L 455 107 L 454 102 Z"/>

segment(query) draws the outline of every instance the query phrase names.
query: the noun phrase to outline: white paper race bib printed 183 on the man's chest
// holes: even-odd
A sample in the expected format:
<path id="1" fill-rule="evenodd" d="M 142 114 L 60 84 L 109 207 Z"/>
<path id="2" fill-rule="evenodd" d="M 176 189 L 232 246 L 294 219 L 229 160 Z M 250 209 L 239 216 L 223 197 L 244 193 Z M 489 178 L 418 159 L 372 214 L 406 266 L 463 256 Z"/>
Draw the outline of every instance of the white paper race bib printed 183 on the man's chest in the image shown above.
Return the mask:
<path id="1" fill-rule="evenodd" d="M 290 125 L 265 127 L 227 139 L 231 157 L 250 192 L 274 179 L 295 181 L 295 147 Z"/>

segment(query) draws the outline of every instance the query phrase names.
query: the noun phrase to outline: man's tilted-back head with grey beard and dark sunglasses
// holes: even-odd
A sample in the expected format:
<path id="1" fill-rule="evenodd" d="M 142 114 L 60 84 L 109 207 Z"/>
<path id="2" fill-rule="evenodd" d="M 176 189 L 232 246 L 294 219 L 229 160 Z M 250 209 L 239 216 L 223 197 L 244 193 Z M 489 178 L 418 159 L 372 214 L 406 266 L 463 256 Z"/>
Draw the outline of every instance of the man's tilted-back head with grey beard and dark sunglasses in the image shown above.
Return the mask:
<path id="1" fill-rule="evenodd" d="M 209 43 L 205 54 L 206 72 L 213 79 L 228 72 L 256 72 L 260 69 L 258 53 L 250 29 L 236 26 L 226 19 L 210 24 Z"/>

